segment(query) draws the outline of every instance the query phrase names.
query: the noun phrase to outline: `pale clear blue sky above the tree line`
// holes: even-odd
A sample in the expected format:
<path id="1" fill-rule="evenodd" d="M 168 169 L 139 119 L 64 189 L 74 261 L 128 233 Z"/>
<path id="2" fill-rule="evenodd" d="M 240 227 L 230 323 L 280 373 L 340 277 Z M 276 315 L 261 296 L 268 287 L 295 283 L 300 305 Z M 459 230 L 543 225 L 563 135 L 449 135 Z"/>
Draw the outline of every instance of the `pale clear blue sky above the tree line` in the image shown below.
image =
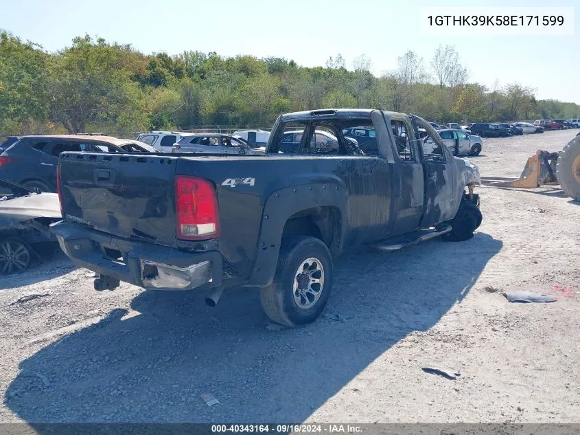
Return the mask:
<path id="1" fill-rule="evenodd" d="M 428 67 L 439 44 L 453 44 L 471 81 L 488 87 L 496 79 L 518 81 L 535 87 L 538 98 L 580 104 L 580 30 L 574 36 L 421 36 L 421 6 L 466 5 L 577 6 L 580 27 L 579 0 L 0 0 L 0 28 L 50 52 L 88 33 L 144 53 L 280 56 L 305 66 L 324 65 L 340 53 L 350 68 L 364 53 L 377 75 L 394 69 L 406 50 Z"/>

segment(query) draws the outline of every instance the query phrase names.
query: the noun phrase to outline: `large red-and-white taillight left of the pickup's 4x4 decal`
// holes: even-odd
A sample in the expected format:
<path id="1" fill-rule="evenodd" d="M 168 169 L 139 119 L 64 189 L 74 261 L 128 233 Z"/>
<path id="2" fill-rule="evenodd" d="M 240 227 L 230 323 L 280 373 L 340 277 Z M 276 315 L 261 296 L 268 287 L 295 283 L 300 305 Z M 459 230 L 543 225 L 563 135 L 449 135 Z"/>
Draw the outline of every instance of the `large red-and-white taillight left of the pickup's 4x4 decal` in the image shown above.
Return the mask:
<path id="1" fill-rule="evenodd" d="M 198 240 L 219 235 L 218 197 L 205 179 L 175 177 L 177 238 Z"/>

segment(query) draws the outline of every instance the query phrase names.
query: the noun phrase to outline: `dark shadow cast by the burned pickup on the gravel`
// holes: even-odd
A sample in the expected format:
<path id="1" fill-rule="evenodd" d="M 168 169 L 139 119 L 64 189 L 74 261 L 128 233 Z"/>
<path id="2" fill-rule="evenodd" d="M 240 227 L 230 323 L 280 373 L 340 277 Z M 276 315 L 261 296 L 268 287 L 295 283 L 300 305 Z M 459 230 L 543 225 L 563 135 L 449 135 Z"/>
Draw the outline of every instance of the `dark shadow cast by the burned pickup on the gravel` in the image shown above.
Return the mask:
<path id="1" fill-rule="evenodd" d="M 135 311 L 113 309 L 22 361 L 5 406 L 30 423 L 301 422 L 399 340 L 436 324 L 501 248 L 478 233 L 353 250 L 335 262 L 325 315 L 297 329 L 268 326 L 257 291 L 224 293 L 216 309 L 195 293 L 141 293 Z M 204 393 L 220 403 L 208 406 Z"/>

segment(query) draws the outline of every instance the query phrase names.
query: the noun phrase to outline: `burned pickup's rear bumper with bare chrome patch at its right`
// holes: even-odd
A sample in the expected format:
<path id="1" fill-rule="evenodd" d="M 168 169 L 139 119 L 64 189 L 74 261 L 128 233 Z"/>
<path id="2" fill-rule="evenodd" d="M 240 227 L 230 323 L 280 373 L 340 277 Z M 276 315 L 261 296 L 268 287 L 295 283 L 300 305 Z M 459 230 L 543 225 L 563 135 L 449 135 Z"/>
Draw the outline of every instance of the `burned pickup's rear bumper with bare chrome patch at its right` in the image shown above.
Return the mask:
<path id="1" fill-rule="evenodd" d="M 148 290 L 190 290 L 222 284 L 222 256 L 217 251 L 183 252 L 128 241 L 65 221 L 53 223 L 50 230 L 75 265 L 119 281 Z M 113 252 L 120 252 L 122 259 L 111 258 Z"/>

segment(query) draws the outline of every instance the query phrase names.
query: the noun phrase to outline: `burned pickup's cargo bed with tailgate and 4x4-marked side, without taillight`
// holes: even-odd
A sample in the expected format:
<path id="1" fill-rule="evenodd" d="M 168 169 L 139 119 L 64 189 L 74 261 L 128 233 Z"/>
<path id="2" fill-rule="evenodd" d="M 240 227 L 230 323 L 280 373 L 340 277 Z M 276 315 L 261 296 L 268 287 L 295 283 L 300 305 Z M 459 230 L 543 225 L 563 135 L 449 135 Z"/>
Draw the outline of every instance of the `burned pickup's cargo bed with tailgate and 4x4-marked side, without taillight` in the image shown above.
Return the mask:
<path id="1" fill-rule="evenodd" d="M 200 177 L 215 185 L 217 241 L 176 238 L 176 175 Z M 377 183 L 378 177 L 382 183 Z M 372 232 L 373 225 L 388 221 L 391 212 L 387 165 L 370 156 L 62 153 L 60 179 L 65 221 L 166 247 L 218 249 L 226 268 L 244 277 L 253 269 L 264 203 L 273 192 L 292 186 L 333 186 L 332 193 L 331 189 L 323 193 L 339 195 L 340 203 L 349 208 L 353 237 L 357 228 Z M 292 201 L 303 194 L 290 192 L 298 193 Z M 348 202 L 346 192 L 351 193 Z M 314 194 L 312 189 L 309 194 Z M 319 201 L 323 205 L 323 199 Z M 277 225 L 281 230 L 283 222 Z"/>

